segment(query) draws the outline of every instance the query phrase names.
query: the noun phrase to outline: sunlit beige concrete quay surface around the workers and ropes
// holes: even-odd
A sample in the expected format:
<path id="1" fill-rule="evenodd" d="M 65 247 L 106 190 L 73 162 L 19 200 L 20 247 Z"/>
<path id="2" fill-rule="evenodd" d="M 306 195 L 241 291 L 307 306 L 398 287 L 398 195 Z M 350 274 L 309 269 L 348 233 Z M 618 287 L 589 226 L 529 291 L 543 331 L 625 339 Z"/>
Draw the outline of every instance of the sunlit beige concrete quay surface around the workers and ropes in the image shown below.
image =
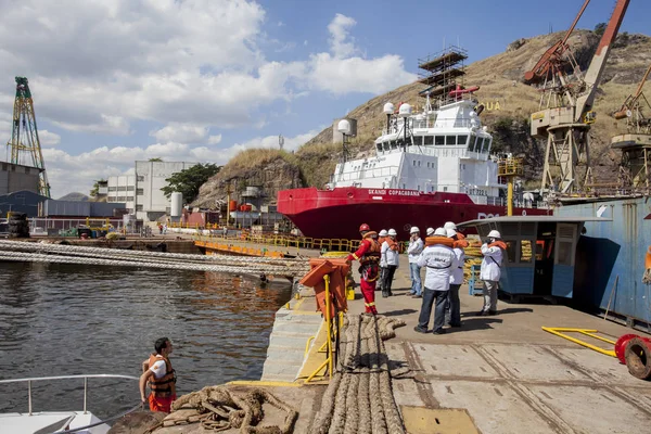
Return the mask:
<path id="1" fill-rule="evenodd" d="M 284 250 L 307 257 L 318 255 L 307 250 Z M 359 276 L 354 275 L 358 282 Z M 617 359 L 547 333 L 541 327 L 592 329 L 613 341 L 639 332 L 562 305 L 500 301 L 498 315 L 477 317 L 483 299 L 469 295 L 468 286 L 462 285 L 462 327 L 447 329 L 445 335 L 421 334 L 413 331 L 421 299 L 408 295 L 405 255 L 400 256 L 393 286 L 392 297 L 375 293 L 376 306 L 381 315 L 406 322 L 385 347 L 394 398 L 408 433 L 649 431 L 649 383 L 631 376 Z M 319 357 L 324 357 L 316 355 L 314 360 L 324 331 L 310 293 L 304 289 L 299 299 L 292 299 L 277 312 L 263 382 L 252 384 L 268 388 L 299 412 L 295 433 L 309 432 L 326 388 L 322 384 L 297 386 L 318 366 L 315 362 L 322 360 Z M 358 288 L 356 299 L 348 302 L 348 311 L 363 311 Z M 310 349 L 312 360 L 302 361 L 310 335 L 317 335 Z M 590 343 L 612 349 L 607 343 Z M 179 427 L 159 432 L 190 432 L 187 427 L 176 430 Z"/>

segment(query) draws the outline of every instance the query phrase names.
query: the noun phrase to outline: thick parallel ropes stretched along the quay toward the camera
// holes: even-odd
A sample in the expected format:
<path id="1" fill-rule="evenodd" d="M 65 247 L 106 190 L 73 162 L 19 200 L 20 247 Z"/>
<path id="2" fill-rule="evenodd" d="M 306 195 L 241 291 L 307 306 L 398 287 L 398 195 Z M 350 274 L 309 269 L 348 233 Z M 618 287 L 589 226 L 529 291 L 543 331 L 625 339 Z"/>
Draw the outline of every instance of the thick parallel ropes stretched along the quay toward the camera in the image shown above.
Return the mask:
<path id="1" fill-rule="evenodd" d="M 404 434 L 384 340 L 405 326 L 397 318 L 344 317 L 340 362 L 321 400 L 311 434 Z"/>

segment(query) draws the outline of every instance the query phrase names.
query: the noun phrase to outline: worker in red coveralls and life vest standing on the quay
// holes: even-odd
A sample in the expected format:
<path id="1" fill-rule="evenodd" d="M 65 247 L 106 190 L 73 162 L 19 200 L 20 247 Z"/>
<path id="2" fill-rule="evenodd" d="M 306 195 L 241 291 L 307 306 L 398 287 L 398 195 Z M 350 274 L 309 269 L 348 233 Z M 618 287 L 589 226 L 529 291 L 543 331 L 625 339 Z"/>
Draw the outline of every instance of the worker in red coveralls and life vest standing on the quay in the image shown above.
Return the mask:
<path id="1" fill-rule="evenodd" d="M 375 283 L 378 281 L 380 265 L 380 243 L 378 232 L 371 231 L 367 224 L 359 227 L 361 242 L 357 252 L 348 255 L 347 260 L 359 260 L 359 286 L 363 295 L 363 305 L 367 314 L 378 315 L 375 309 Z"/>

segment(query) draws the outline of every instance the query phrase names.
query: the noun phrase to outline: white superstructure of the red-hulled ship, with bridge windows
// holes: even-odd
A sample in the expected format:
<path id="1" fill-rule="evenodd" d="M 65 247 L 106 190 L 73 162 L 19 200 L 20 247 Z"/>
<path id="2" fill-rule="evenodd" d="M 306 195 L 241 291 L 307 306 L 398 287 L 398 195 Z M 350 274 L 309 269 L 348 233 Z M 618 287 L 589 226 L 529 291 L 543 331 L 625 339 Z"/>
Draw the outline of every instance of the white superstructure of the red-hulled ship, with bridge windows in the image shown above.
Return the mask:
<path id="1" fill-rule="evenodd" d="M 330 187 L 464 193 L 477 204 L 494 204 L 506 186 L 498 183 L 497 162 L 489 156 L 493 138 L 482 127 L 477 104 L 472 93 L 438 110 L 427 98 L 417 115 L 401 104 L 375 140 L 375 156 L 337 164 Z"/>

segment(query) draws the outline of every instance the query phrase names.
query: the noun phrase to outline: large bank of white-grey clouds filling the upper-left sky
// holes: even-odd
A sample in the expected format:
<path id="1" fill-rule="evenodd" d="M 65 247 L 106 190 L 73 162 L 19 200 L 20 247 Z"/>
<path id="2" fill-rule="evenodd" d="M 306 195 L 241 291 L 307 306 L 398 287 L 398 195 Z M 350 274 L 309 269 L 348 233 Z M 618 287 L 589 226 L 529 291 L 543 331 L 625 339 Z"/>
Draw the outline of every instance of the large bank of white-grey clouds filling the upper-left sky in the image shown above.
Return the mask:
<path id="1" fill-rule="evenodd" d="M 37 119 L 64 130 L 58 130 L 62 137 L 41 131 L 58 195 L 86 192 L 94 179 L 123 174 L 136 159 L 225 164 L 242 149 L 276 148 L 277 136 L 225 146 L 220 130 L 259 128 L 273 119 L 266 112 L 270 104 L 285 101 L 291 111 L 291 102 L 307 92 L 378 94 L 416 78 L 398 55 L 366 59 L 353 38 L 356 21 L 342 14 L 328 26 L 328 52 L 277 62 L 266 53 L 291 50 L 299 40 L 270 40 L 265 11 L 254 1 L 0 4 L 0 133 L 11 135 L 14 89 L 7 84 L 20 71 L 29 78 Z M 156 143 L 84 152 L 48 148 L 66 142 L 67 131 L 130 135 L 140 120 L 161 125 L 149 131 Z M 285 138 L 284 148 L 296 149 L 317 132 Z"/>

